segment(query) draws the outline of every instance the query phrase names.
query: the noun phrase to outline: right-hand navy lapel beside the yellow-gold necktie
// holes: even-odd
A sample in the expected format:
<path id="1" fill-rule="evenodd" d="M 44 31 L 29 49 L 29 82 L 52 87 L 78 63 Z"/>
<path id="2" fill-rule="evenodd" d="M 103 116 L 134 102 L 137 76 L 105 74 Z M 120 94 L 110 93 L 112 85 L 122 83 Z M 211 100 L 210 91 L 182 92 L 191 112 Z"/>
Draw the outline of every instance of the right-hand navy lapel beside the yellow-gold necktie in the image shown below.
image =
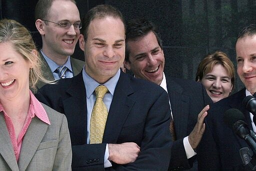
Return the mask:
<path id="1" fill-rule="evenodd" d="M 130 86 L 130 79 L 121 72 L 109 108 L 102 142 L 115 143 L 117 141 L 121 128 L 135 102 L 129 97 L 131 93 L 133 89 Z"/>

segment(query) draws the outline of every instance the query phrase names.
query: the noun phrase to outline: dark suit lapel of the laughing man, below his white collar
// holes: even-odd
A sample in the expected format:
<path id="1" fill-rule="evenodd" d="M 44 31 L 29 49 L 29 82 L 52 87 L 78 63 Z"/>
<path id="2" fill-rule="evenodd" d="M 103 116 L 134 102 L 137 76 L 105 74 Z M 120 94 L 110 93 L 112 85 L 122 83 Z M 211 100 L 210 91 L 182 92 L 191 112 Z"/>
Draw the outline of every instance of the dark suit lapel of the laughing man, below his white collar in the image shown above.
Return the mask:
<path id="1" fill-rule="evenodd" d="M 179 139 L 187 134 L 189 98 L 182 94 L 183 88 L 176 82 L 171 79 L 167 80 L 166 78 L 166 84 L 170 99 L 172 117 L 174 120 L 176 138 Z M 182 116 L 180 116 L 180 114 L 182 114 Z"/>

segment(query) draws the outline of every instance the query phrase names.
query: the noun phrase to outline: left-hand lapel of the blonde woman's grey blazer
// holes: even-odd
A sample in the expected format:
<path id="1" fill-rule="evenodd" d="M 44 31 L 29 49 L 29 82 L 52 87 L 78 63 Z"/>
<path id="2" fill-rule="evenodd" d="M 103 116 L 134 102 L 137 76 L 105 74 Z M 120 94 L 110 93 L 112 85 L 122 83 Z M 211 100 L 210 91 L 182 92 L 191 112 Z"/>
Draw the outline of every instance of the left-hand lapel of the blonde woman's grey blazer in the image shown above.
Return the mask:
<path id="1" fill-rule="evenodd" d="M 17 161 L 9 138 L 9 133 L 4 121 L 3 113 L 0 112 L 0 154 L 11 170 L 18 170 Z"/>

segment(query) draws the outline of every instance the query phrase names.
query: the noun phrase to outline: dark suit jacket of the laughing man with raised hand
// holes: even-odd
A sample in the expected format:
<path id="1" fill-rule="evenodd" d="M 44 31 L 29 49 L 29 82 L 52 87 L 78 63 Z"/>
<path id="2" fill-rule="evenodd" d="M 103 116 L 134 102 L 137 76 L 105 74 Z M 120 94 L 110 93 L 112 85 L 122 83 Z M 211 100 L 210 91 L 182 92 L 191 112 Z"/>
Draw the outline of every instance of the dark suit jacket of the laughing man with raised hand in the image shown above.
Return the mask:
<path id="1" fill-rule="evenodd" d="M 183 138 L 192 131 L 202 108 L 212 101 L 202 84 L 196 81 L 166 77 L 166 84 L 177 139 L 171 147 L 169 170 L 188 169 L 194 157 L 187 159 Z M 197 170 L 196 164 L 191 170 Z"/>

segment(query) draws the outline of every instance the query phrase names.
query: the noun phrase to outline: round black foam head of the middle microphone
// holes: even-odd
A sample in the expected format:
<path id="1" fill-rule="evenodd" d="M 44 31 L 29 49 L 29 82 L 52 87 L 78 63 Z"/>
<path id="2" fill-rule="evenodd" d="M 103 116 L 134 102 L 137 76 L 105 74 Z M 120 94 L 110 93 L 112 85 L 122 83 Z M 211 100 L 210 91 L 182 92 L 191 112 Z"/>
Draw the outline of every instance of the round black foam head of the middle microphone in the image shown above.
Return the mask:
<path id="1" fill-rule="evenodd" d="M 224 123 L 232 129 L 233 124 L 238 120 L 244 120 L 243 113 L 236 108 L 229 108 L 224 112 Z"/>

